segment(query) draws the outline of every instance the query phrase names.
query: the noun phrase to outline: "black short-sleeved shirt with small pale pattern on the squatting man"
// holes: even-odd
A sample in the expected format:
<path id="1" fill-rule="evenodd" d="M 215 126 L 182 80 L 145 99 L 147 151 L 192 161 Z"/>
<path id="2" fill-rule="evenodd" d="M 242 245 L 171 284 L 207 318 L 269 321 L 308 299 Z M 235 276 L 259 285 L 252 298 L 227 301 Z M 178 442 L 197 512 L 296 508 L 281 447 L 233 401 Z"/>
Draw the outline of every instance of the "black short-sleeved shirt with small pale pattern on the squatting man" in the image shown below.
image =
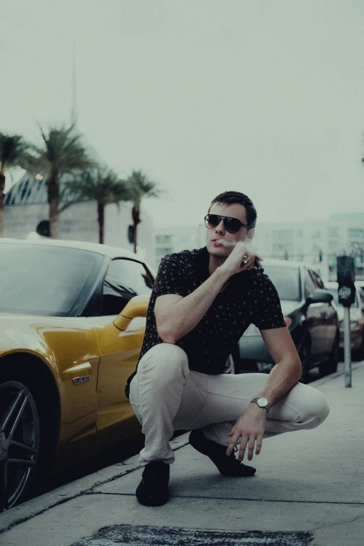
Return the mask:
<path id="1" fill-rule="evenodd" d="M 183 250 L 162 258 L 146 315 L 146 331 L 139 361 L 146 351 L 163 340 L 159 337 L 154 305 L 165 294 L 188 296 L 208 278 L 207 248 Z M 250 324 L 259 330 L 286 326 L 277 290 L 263 268 L 233 275 L 227 287 L 211 303 L 199 324 L 176 342 L 188 356 L 190 370 L 221 374 L 231 354 Z M 136 371 L 129 377 L 129 384 Z"/>

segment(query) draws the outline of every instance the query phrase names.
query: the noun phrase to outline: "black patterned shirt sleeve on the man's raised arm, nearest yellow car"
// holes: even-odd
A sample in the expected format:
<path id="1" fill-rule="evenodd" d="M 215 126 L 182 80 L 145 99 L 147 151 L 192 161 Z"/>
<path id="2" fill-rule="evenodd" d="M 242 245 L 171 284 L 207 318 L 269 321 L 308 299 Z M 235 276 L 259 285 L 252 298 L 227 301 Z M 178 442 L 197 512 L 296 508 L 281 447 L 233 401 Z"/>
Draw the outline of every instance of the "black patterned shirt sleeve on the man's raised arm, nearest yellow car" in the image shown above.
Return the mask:
<path id="1" fill-rule="evenodd" d="M 183 298 L 187 296 L 187 268 L 187 264 L 183 264 L 178 253 L 162 258 L 154 284 L 156 297 L 165 296 L 165 294 L 177 294 Z"/>

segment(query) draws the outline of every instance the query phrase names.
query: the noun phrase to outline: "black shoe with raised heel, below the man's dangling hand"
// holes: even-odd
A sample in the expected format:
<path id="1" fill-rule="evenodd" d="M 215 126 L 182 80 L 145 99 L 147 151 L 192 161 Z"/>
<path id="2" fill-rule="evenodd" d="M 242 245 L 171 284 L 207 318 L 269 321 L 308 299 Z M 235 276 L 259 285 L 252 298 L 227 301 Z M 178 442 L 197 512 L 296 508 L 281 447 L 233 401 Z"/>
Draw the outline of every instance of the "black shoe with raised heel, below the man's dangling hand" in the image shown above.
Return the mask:
<path id="1" fill-rule="evenodd" d="M 202 429 L 192 430 L 190 433 L 190 445 L 199 453 L 207 455 L 211 461 L 218 467 L 218 471 L 223 476 L 253 476 L 254 467 L 248 467 L 246 464 L 236 459 L 234 452 L 232 455 L 226 455 L 227 446 L 221 446 L 220 443 L 209 440 L 204 436 Z"/>

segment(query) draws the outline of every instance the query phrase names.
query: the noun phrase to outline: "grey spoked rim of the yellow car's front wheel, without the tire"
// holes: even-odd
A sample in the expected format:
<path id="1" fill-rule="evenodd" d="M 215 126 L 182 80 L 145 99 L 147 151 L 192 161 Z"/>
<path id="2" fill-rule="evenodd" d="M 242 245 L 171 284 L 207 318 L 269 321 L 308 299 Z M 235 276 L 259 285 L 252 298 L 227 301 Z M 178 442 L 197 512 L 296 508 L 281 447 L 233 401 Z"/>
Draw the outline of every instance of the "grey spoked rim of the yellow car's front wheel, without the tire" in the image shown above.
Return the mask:
<path id="1" fill-rule="evenodd" d="M 0 376 L 0 511 L 26 492 L 39 452 L 39 415 L 31 385 Z M 16 379 L 16 380 L 15 380 Z"/>

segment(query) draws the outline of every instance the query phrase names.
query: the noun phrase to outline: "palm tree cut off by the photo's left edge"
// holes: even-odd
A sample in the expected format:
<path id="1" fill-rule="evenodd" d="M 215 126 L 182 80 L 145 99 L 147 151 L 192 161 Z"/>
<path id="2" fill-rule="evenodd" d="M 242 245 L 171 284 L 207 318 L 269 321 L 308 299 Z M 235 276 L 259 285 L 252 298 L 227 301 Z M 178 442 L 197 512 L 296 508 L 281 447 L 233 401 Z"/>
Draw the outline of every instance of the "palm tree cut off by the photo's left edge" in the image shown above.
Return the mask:
<path id="1" fill-rule="evenodd" d="M 5 135 L 0 132 L 0 237 L 3 236 L 3 199 L 5 173 L 11 167 L 18 167 L 27 144 L 20 135 Z"/>

